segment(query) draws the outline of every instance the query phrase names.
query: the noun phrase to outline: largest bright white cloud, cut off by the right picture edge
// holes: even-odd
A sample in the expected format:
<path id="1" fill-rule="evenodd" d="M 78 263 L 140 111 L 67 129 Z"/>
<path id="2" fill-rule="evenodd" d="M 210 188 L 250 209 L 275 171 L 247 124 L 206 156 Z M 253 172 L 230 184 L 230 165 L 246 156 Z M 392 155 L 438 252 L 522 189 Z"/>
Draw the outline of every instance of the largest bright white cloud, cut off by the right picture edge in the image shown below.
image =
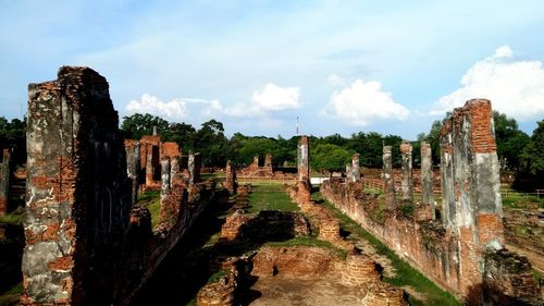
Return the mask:
<path id="1" fill-rule="evenodd" d="M 486 98 L 493 109 L 518 121 L 544 114 L 544 66 L 541 61 L 515 60 L 515 52 L 502 46 L 474 63 L 462 76 L 460 88 L 440 98 L 431 114 L 444 114 L 472 98 Z"/>

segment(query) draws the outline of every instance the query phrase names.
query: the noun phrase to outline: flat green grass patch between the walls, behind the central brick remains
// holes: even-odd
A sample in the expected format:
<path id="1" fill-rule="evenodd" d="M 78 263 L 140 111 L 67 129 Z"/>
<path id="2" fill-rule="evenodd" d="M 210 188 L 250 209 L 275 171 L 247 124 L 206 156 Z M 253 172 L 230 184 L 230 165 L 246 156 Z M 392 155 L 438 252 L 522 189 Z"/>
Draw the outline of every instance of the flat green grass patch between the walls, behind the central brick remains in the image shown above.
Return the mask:
<path id="1" fill-rule="evenodd" d="M 289 196 L 280 184 L 258 184 L 252 185 L 252 193 L 249 194 L 248 212 L 259 212 L 261 210 L 297 211 L 298 206 L 292 203 Z"/>

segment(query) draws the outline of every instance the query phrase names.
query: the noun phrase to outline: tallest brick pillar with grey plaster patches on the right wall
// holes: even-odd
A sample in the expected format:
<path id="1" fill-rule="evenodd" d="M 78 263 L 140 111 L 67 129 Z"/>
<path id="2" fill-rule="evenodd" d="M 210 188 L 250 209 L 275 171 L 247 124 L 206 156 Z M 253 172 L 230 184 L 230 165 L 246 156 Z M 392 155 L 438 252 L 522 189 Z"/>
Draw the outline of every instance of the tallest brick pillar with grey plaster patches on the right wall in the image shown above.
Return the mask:
<path id="1" fill-rule="evenodd" d="M 467 101 L 441 131 L 444 224 L 459 236 L 460 292 L 482 284 L 485 249 L 504 243 L 491 102 Z"/>

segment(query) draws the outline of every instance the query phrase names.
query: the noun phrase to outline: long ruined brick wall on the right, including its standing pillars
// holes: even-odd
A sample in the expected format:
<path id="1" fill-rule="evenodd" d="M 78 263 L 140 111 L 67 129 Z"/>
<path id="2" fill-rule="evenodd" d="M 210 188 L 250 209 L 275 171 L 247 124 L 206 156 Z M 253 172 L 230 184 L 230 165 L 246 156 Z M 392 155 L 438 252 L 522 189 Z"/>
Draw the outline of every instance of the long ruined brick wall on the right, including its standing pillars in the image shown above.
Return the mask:
<path id="1" fill-rule="evenodd" d="M 504 248 L 498 160 L 489 100 L 469 100 L 454 110 L 441 131 L 442 218 L 426 203 L 411 204 L 411 147 L 404 143 L 403 198 L 412 215 L 394 201 L 391 147 L 384 147 L 386 207 L 376 217 L 375 199 L 354 183 L 325 181 L 322 195 L 428 278 L 470 305 L 508 299 L 540 305 L 530 264 Z M 422 156 L 429 155 L 422 146 Z M 426 159 L 426 157 L 425 157 Z M 423 194 L 429 193 L 423 160 Z M 428 194 L 429 195 L 429 194 Z M 420 206 L 421 205 L 421 206 Z M 426 205 L 426 206 L 425 206 Z M 420 208 L 423 207 L 423 210 Z M 423 212 L 422 212 L 423 211 Z M 515 264 L 517 262 L 517 264 Z"/>

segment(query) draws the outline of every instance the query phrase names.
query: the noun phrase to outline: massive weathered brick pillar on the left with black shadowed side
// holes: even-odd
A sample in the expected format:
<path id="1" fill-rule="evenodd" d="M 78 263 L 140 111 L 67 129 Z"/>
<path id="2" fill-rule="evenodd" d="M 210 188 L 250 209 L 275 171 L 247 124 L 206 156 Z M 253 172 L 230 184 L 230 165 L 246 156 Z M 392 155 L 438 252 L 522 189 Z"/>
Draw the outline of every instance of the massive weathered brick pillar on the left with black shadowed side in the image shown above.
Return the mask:
<path id="1" fill-rule="evenodd" d="M 111 305 L 131 182 L 104 77 L 63 66 L 28 86 L 23 305 Z"/>

